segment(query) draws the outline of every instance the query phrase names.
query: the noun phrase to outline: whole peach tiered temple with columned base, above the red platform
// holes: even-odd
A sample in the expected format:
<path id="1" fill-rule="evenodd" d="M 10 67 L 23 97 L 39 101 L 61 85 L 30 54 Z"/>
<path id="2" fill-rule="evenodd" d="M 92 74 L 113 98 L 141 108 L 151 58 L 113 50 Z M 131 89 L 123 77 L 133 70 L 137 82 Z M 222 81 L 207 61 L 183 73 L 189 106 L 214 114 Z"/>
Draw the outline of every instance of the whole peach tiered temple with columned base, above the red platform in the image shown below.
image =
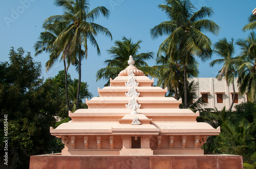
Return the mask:
<path id="1" fill-rule="evenodd" d="M 201 146 L 220 128 L 197 122 L 199 112 L 179 109 L 181 100 L 165 97 L 166 89 L 129 66 L 99 97 L 86 100 L 88 109 L 69 112 L 72 120 L 50 128 L 61 138 L 61 155 L 203 155 Z"/>

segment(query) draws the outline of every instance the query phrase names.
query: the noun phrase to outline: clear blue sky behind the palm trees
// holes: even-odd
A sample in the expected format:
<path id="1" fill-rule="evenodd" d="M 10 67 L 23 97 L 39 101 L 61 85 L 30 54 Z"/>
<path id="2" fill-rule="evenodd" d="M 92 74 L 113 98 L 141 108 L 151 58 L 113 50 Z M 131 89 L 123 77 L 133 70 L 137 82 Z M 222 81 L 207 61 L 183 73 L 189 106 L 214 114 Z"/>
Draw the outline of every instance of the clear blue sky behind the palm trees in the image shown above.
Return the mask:
<path id="1" fill-rule="evenodd" d="M 242 32 L 242 27 L 248 23 L 248 17 L 256 7 L 254 0 L 192 0 L 193 5 L 197 8 L 202 6 L 212 7 L 215 15 L 210 19 L 215 21 L 221 31 L 218 36 L 206 34 L 212 42 L 226 37 L 228 40 L 234 38 L 246 38 L 249 32 Z M 82 81 L 88 82 L 89 90 L 94 96 L 98 96 L 97 87 L 103 88 L 106 80 L 96 82 L 96 71 L 105 67 L 103 62 L 110 58 L 106 52 L 111 46 L 114 46 L 116 40 L 121 40 L 123 36 L 132 38 L 134 42 L 142 40 L 139 52 L 153 51 L 155 54 L 165 36 L 152 39 L 150 29 L 162 21 L 167 20 L 164 12 L 157 6 L 165 4 L 163 0 L 94 0 L 90 1 L 90 9 L 97 6 L 105 6 L 111 14 L 108 19 L 100 17 L 95 20 L 96 23 L 109 29 L 112 33 L 113 40 L 99 35 L 97 42 L 99 44 L 101 55 L 98 56 L 96 49 L 90 46 L 88 59 L 82 61 Z M 23 47 L 25 51 L 31 52 L 34 56 L 33 45 L 37 41 L 42 22 L 51 15 L 62 14 L 62 9 L 54 5 L 54 0 L 12 0 L 3 1 L 0 10 L 0 62 L 8 61 L 10 47 L 15 49 Z M 239 48 L 236 47 L 236 55 Z M 216 55 L 212 60 L 218 59 Z M 45 70 L 45 63 L 48 60 L 48 54 L 40 54 L 34 57 L 34 60 L 42 64 L 42 76 L 45 78 L 55 76 L 59 70 L 63 69 L 63 63 L 57 62 L 49 71 Z M 199 77 L 215 77 L 220 66 L 209 68 L 209 62 L 202 63 L 199 61 Z M 150 66 L 155 65 L 155 61 L 148 62 Z M 78 78 L 78 73 L 74 68 L 69 69 L 72 78 Z"/>

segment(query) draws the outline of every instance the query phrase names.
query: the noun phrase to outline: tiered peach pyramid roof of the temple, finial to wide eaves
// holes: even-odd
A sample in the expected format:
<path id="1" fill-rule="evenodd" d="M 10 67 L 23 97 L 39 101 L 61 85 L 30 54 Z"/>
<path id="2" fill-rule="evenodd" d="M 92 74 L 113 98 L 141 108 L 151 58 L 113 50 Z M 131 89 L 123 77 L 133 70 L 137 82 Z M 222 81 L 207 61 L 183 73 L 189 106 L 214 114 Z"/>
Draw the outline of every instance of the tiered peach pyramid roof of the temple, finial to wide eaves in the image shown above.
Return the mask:
<path id="1" fill-rule="evenodd" d="M 153 87 L 150 79 L 134 66 L 133 58 L 110 87 L 98 88 L 99 97 L 86 99 L 88 109 L 69 113 L 72 121 L 51 134 L 61 135 L 218 135 L 207 123 L 197 123 L 199 112 L 179 109 L 181 99 L 165 97 L 166 89 Z"/>

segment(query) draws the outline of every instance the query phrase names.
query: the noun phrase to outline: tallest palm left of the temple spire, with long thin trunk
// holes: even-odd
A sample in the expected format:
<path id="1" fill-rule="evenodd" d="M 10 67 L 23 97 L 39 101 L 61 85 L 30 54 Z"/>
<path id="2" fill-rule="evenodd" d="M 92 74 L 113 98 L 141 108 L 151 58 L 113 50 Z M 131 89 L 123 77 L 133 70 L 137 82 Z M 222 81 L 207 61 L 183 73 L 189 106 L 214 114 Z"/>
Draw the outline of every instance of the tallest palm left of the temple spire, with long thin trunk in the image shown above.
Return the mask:
<path id="1" fill-rule="evenodd" d="M 62 46 L 63 44 L 70 42 L 70 62 L 75 64 L 78 61 L 79 78 L 76 94 L 76 109 L 78 109 L 81 85 L 81 61 L 83 58 L 87 59 L 87 42 L 90 41 L 91 44 L 96 47 L 98 54 L 100 54 L 100 49 L 95 36 L 101 33 L 112 39 L 112 35 L 108 29 L 93 21 L 100 15 L 108 17 L 110 12 L 105 7 L 96 7 L 92 11 L 89 11 L 88 0 L 55 0 L 55 5 L 62 7 L 64 13 L 62 15 L 50 16 L 45 20 L 44 25 L 48 25 L 46 30 L 51 29 L 52 26 L 65 27 L 57 37 L 55 44 Z M 84 51 L 82 50 L 82 47 L 84 48 Z"/>

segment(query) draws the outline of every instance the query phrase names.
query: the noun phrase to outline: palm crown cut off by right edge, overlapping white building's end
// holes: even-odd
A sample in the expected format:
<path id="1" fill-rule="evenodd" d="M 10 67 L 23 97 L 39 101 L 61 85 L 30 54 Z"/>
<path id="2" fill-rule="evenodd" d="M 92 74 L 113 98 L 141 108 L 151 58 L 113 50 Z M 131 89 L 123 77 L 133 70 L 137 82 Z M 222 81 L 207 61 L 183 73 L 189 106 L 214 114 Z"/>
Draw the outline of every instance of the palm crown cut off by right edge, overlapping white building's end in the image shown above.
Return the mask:
<path id="1" fill-rule="evenodd" d="M 241 47 L 241 54 L 237 57 L 238 83 L 241 94 L 247 92 L 248 99 L 252 102 L 256 99 L 256 35 L 254 32 L 246 39 L 239 39 L 237 43 Z"/>

